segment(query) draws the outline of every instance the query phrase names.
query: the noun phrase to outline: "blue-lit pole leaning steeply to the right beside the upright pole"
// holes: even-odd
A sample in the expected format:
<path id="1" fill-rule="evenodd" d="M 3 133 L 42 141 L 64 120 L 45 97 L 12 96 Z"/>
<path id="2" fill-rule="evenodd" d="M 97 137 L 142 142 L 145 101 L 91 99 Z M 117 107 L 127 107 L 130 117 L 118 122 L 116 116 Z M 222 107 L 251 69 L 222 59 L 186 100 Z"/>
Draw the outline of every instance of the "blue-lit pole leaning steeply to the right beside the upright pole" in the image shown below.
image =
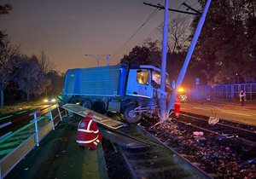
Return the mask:
<path id="1" fill-rule="evenodd" d="M 183 83 L 183 78 L 184 78 L 184 76 L 185 76 L 185 74 L 187 72 L 187 68 L 189 66 L 189 61 L 190 61 L 191 56 L 193 54 L 193 51 L 195 49 L 196 41 L 199 38 L 199 35 L 200 35 L 200 32 L 201 32 L 201 28 L 204 25 L 204 22 L 206 20 L 207 11 L 209 9 L 210 4 L 211 4 L 211 0 L 207 0 L 205 9 L 204 9 L 203 13 L 201 14 L 201 18 L 200 18 L 199 23 L 198 23 L 198 25 L 196 27 L 194 37 L 193 37 L 192 42 L 190 44 L 189 52 L 188 52 L 188 54 L 186 56 L 186 59 L 185 59 L 185 61 L 183 63 L 183 68 L 179 72 L 179 75 L 178 75 L 178 78 L 177 78 L 177 87 L 176 87 L 176 89 L 178 89 L 181 86 L 181 84 Z M 174 93 L 172 95 L 171 101 L 170 101 L 170 103 L 168 105 L 168 109 L 167 109 L 168 113 L 170 113 L 171 109 L 173 108 L 176 96 L 177 96 L 177 90 L 174 90 Z"/>

